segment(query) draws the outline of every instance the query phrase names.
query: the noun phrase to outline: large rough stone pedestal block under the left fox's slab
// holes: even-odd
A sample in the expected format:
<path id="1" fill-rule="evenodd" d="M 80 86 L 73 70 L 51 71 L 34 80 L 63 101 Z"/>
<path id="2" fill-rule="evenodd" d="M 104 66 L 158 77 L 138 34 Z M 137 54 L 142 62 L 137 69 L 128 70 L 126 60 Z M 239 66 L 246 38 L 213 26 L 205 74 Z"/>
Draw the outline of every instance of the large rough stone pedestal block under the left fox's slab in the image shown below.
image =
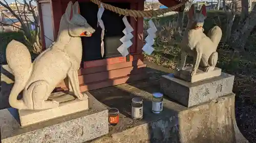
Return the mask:
<path id="1" fill-rule="evenodd" d="M 108 134 L 108 110 L 91 94 L 89 110 L 21 128 L 17 110 L 0 110 L 2 143 L 85 142 Z"/>

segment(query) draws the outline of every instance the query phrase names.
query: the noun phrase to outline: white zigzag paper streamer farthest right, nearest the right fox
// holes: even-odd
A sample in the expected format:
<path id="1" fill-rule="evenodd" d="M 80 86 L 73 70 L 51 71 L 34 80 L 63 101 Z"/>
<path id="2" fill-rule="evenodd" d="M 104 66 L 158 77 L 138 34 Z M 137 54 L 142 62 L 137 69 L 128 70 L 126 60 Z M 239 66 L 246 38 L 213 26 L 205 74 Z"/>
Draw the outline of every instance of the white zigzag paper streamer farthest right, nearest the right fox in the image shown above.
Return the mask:
<path id="1" fill-rule="evenodd" d="M 148 21 L 148 23 L 150 24 L 150 28 L 148 28 L 148 30 L 146 31 L 148 35 L 145 38 L 146 44 L 143 46 L 142 50 L 146 54 L 151 55 L 152 52 L 154 51 L 154 48 L 152 47 L 152 45 L 155 42 L 154 39 L 156 38 L 157 28 L 152 20 Z"/>

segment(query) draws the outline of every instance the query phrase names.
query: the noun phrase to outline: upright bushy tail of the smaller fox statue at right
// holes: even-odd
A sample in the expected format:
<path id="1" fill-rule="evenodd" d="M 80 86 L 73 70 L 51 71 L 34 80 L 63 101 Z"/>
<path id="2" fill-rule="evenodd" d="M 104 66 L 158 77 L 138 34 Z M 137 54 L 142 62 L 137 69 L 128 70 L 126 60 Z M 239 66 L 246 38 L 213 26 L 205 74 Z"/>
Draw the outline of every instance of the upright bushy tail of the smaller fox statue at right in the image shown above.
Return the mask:
<path id="1" fill-rule="evenodd" d="M 217 50 L 218 44 L 221 41 L 222 31 L 219 26 L 212 27 L 209 32 L 207 33 L 207 37 L 210 38 L 212 43 L 214 43 L 214 46 L 216 47 L 215 50 Z"/>

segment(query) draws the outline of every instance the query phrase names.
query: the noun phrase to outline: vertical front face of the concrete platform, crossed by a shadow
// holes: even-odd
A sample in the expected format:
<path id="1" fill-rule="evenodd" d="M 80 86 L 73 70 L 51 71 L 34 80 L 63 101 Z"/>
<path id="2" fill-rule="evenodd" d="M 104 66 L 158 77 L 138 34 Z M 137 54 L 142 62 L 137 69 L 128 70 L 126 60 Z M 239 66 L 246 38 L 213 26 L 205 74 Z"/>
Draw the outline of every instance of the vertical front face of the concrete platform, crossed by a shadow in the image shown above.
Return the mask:
<path id="1" fill-rule="evenodd" d="M 249 143 L 236 129 L 234 94 L 186 109 L 177 103 L 164 100 L 164 108 L 169 112 L 165 112 L 164 116 L 159 115 L 160 119 L 158 120 L 144 122 L 140 125 L 136 123 L 133 128 L 115 132 L 110 136 L 103 136 L 89 142 Z M 146 115 L 146 117 L 149 116 Z"/>

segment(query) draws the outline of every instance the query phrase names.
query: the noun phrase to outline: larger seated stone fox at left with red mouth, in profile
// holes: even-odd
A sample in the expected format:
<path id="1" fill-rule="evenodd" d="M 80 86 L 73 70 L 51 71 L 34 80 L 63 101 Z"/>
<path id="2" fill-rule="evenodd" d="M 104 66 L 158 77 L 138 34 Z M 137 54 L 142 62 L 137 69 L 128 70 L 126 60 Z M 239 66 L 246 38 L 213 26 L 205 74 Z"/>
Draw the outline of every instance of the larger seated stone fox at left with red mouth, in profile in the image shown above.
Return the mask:
<path id="1" fill-rule="evenodd" d="M 94 28 L 79 14 L 76 2 L 68 4 L 61 17 L 58 38 L 47 50 L 31 63 L 28 48 L 20 42 L 11 41 L 6 49 L 7 63 L 15 82 L 9 103 L 17 109 L 47 109 L 58 107 L 57 101 L 48 97 L 59 82 L 68 76 L 72 91 L 78 99 L 87 99 L 79 89 L 78 69 L 82 59 L 81 36 L 90 37 Z M 22 100 L 17 96 L 23 91 Z M 86 97 L 85 97 L 86 96 Z"/>

